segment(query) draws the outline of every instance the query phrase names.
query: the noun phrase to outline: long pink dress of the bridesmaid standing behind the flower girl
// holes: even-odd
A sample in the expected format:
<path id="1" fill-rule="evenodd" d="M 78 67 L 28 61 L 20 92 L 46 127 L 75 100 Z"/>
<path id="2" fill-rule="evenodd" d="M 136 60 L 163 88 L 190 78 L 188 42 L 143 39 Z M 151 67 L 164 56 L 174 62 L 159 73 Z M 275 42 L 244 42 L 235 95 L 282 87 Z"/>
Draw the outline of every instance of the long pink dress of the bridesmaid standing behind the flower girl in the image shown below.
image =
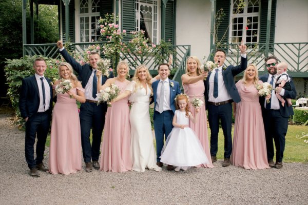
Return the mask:
<path id="1" fill-rule="evenodd" d="M 204 82 L 203 80 L 197 81 L 194 84 L 183 84 L 184 93 L 189 97 L 191 101 L 195 96 L 200 98 L 203 101 L 203 106 L 200 108 L 200 112 L 197 118 L 196 123 L 189 120 L 189 128 L 195 131 L 198 136 L 201 145 L 204 149 L 206 157 L 209 159 L 209 162 L 206 164 L 202 164 L 197 167 L 205 167 L 205 168 L 213 168 L 213 163 L 211 162 L 209 145 L 208 145 L 208 136 L 207 136 L 207 119 L 206 119 L 206 111 L 205 111 L 205 100 L 204 100 Z M 190 112 L 193 116 L 196 116 L 195 108 L 190 106 Z"/>

